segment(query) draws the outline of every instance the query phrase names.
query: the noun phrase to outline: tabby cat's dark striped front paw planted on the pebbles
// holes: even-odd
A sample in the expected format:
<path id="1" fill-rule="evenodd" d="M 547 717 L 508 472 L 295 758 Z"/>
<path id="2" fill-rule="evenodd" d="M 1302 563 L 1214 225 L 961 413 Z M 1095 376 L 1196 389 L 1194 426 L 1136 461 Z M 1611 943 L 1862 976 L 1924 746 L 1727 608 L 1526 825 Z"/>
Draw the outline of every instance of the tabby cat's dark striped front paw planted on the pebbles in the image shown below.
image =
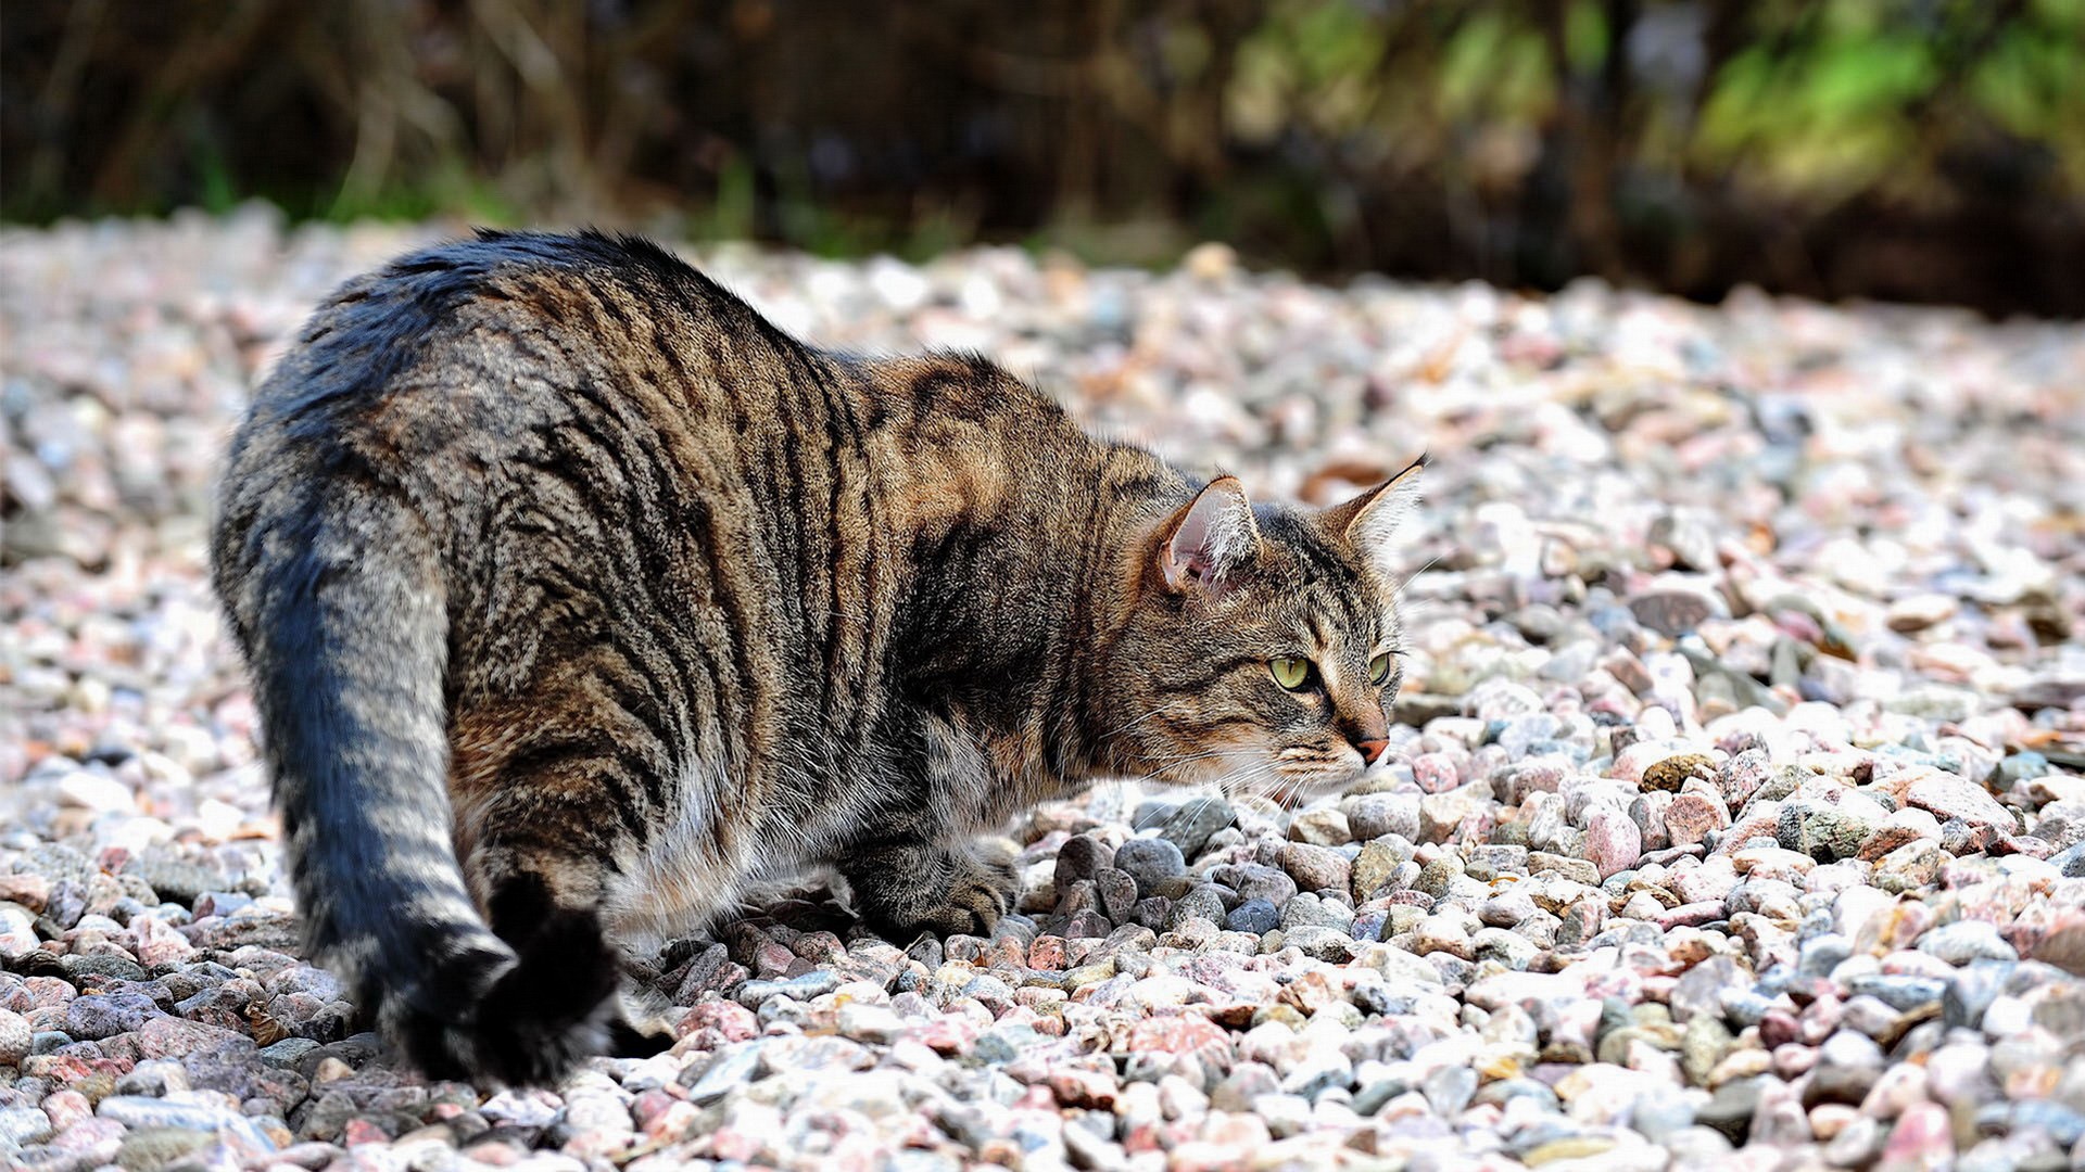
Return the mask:
<path id="1" fill-rule="evenodd" d="M 855 911 L 890 938 L 990 936 L 1017 888 L 1013 863 L 980 843 L 882 843 L 842 859 L 840 874 Z"/>

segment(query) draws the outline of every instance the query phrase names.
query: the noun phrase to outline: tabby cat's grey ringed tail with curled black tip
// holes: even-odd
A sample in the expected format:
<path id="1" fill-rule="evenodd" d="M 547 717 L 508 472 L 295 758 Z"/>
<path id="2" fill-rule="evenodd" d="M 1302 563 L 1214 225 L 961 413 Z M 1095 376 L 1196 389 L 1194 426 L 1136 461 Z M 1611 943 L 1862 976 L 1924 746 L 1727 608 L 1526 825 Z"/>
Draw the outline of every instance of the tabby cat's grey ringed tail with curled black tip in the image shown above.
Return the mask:
<path id="1" fill-rule="evenodd" d="M 592 911 L 519 949 L 450 838 L 448 615 L 434 538 L 371 484 L 227 478 L 219 596 L 246 649 L 309 947 L 432 1076 L 542 1084 L 611 1034 Z"/>

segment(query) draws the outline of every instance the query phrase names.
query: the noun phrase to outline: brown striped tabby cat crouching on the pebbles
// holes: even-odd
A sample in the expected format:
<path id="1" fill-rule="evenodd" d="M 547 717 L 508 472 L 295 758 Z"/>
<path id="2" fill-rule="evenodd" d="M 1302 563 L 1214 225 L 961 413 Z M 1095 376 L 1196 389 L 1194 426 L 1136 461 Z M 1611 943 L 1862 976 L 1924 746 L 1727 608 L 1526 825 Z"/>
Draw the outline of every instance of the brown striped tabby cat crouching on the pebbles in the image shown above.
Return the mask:
<path id="1" fill-rule="evenodd" d="M 1101 776 L 1289 799 L 1387 744 L 1391 532 L 1088 438 L 980 357 L 809 348 L 667 250 L 480 231 L 254 394 L 213 582 L 309 947 L 430 1076 L 663 1039 L 621 955 L 830 865 L 988 934 L 974 843 Z"/>

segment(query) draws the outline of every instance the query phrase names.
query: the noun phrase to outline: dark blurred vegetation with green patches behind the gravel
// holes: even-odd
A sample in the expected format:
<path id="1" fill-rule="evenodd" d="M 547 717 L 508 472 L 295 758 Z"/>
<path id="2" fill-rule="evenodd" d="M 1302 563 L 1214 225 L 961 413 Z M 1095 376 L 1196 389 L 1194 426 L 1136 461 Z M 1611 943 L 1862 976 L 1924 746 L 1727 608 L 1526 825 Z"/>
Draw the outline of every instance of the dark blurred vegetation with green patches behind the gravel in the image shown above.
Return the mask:
<path id="1" fill-rule="evenodd" d="M 0 215 L 2085 315 L 2085 0 L 8 0 Z"/>

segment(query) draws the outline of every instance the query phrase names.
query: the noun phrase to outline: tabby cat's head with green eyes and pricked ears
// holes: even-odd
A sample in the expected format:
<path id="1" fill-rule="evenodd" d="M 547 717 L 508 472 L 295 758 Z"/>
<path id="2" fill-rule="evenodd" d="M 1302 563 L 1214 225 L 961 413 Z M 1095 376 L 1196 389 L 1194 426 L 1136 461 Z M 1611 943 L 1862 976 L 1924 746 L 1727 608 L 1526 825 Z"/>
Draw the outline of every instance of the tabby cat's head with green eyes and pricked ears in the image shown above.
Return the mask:
<path id="1" fill-rule="evenodd" d="M 1282 801 L 1359 780 L 1403 678 L 1391 542 L 1422 465 L 1322 511 L 1222 478 L 1155 526 L 1101 682 L 1115 763 Z"/>

